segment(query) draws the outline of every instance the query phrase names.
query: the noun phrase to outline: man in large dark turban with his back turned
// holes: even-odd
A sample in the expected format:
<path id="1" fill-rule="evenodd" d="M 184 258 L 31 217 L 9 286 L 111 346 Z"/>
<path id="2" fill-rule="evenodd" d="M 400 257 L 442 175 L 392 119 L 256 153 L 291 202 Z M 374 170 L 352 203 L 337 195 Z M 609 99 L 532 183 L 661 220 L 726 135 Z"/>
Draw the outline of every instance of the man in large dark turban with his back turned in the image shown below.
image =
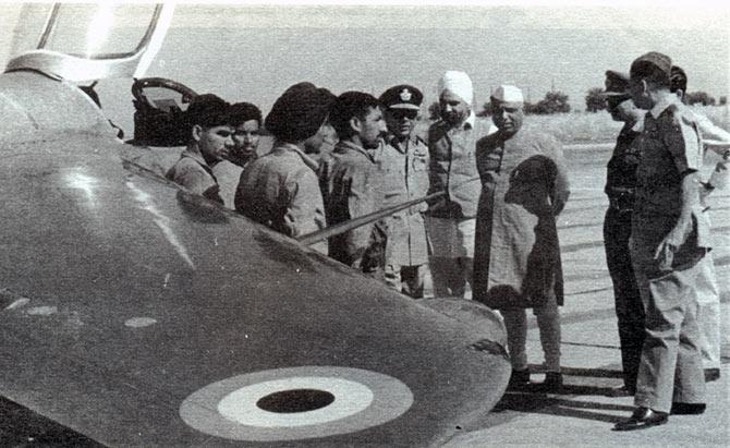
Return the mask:
<path id="1" fill-rule="evenodd" d="M 273 149 L 241 173 L 236 210 L 289 237 L 326 227 L 318 166 L 304 147 L 321 145 L 319 130 L 333 100 L 329 90 L 311 83 L 295 84 L 276 100 L 265 121 L 275 137 Z M 326 242 L 313 247 L 327 253 Z"/>

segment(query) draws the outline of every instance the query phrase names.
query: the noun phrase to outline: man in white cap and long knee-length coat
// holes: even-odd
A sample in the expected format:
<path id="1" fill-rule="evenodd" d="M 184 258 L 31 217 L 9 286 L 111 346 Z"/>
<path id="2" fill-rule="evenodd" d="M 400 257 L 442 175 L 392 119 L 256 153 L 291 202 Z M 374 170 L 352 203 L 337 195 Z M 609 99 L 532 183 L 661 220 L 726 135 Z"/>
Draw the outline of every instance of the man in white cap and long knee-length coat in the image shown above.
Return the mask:
<path id="1" fill-rule="evenodd" d="M 523 105 L 518 87 L 497 88 L 491 112 L 498 131 L 476 144 L 482 195 L 473 298 L 504 317 L 512 389 L 530 385 L 525 310 L 533 308 L 547 371 L 538 387 L 557 391 L 563 282 L 556 219 L 568 201 L 568 177 L 558 141 L 522 128 Z"/>

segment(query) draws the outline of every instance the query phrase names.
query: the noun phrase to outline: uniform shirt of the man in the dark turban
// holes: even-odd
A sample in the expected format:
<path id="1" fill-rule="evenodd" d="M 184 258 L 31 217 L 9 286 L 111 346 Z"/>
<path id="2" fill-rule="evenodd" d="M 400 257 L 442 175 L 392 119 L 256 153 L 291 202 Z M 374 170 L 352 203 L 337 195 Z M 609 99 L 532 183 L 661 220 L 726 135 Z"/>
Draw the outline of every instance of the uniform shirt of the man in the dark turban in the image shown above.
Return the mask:
<path id="1" fill-rule="evenodd" d="M 297 146 L 278 143 L 241 173 L 235 209 L 285 235 L 295 238 L 324 229 L 325 207 L 316 162 Z M 327 252 L 326 243 L 313 246 Z"/>

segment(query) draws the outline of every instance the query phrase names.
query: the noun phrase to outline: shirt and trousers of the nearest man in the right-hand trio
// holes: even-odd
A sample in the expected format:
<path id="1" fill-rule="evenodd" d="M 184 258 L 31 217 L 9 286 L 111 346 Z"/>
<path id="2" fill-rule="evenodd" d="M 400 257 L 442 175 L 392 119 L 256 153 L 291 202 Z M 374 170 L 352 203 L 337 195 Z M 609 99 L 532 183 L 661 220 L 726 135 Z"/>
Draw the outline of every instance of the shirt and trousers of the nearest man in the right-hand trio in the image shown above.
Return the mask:
<path id="1" fill-rule="evenodd" d="M 698 184 L 691 187 L 697 205 L 690 234 L 679 247 L 655 258 L 680 217 L 683 179 L 702 165 L 696 123 L 672 98 L 662 97 L 644 119 L 630 242 L 646 313 L 634 402 L 659 412 L 669 412 L 672 402 L 702 403 L 705 393 L 696 278 L 698 263 L 709 250 L 709 228 L 698 205 Z"/>

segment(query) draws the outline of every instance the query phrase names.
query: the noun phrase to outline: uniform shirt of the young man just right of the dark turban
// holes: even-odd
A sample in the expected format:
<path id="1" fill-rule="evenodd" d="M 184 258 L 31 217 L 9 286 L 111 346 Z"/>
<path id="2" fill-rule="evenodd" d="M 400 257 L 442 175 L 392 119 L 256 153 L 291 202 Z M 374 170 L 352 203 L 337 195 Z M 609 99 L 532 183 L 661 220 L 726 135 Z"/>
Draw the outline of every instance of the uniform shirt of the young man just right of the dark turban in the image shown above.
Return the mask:
<path id="1" fill-rule="evenodd" d="M 374 154 L 351 142 L 339 142 L 323 160 L 319 182 L 330 226 L 373 213 L 382 204 L 381 173 Z M 370 271 L 385 265 L 385 222 L 361 226 L 330 238 L 329 256 Z"/>

